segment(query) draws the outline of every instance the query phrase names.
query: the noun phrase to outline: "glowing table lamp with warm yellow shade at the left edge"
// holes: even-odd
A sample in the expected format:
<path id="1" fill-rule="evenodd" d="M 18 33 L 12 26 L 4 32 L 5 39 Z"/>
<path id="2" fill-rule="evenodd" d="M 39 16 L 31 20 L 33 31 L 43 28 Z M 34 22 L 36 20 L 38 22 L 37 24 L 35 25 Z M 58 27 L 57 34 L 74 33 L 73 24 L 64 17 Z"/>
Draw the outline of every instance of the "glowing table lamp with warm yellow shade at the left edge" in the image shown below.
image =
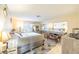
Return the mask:
<path id="1" fill-rule="evenodd" d="M 10 38 L 9 33 L 7 32 L 0 32 L 0 42 L 2 42 L 2 51 L 3 53 L 7 53 L 7 48 L 8 48 L 8 40 Z"/>

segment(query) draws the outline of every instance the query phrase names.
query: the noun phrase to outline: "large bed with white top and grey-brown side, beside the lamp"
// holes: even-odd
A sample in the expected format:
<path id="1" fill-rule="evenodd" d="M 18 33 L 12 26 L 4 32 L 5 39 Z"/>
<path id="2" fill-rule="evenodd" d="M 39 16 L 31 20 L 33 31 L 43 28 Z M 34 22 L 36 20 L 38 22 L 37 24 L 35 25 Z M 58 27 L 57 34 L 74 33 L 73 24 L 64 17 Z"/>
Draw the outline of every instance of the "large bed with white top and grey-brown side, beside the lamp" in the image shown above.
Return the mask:
<path id="1" fill-rule="evenodd" d="M 44 44 L 44 36 L 42 34 L 27 32 L 21 33 L 21 35 L 21 38 L 10 40 L 10 42 L 8 43 L 8 48 L 17 47 L 18 54 L 27 53 L 31 49 L 35 49 Z"/>

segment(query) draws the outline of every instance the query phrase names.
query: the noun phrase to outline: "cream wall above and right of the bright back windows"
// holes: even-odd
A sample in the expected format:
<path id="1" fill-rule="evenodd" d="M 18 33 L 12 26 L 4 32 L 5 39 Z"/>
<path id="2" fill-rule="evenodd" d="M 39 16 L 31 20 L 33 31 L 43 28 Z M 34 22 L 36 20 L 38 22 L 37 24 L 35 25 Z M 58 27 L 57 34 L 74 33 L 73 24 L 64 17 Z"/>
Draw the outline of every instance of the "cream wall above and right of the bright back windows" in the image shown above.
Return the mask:
<path id="1" fill-rule="evenodd" d="M 72 13 L 55 17 L 50 22 L 68 22 L 68 33 L 70 33 L 72 32 L 73 28 L 79 28 L 79 13 Z"/>

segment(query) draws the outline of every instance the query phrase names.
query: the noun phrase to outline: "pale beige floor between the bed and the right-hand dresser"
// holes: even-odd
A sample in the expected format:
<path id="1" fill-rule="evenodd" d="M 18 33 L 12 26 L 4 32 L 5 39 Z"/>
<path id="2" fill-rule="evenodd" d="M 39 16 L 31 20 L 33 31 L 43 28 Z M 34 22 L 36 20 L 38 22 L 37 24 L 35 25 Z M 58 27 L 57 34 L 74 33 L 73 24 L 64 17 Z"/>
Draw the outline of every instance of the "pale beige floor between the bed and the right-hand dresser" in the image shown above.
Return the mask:
<path id="1" fill-rule="evenodd" d="M 49 41 L 49 43 L 50 42 L 51 41 Z M 52 45 L 50 45 L 46 48 L 45 48 L 45 46 L 41 46 L 26 54 L 61 54 L 62 53 L 61 43 L 55 43 L 54 41 L 52 43 L 53 43 Z M 44 49 L 42 49 L 42 48 L 44 48 Z"/>

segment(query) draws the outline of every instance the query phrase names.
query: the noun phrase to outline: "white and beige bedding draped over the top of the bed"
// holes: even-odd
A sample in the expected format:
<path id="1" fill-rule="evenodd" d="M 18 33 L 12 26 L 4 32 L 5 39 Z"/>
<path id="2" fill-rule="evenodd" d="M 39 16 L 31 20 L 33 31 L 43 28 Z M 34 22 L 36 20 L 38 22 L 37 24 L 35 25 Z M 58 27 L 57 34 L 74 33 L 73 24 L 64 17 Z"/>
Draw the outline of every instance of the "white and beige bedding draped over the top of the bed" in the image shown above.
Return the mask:
<path id="1" fill-rule="evenodd" d="M 23 33 L 23 35 L 24 36 L 18 41 L 18 46 L 23 46 L 25 44 L 37 42 L 44 39 L 41 34 L 35 32 Z"/>

